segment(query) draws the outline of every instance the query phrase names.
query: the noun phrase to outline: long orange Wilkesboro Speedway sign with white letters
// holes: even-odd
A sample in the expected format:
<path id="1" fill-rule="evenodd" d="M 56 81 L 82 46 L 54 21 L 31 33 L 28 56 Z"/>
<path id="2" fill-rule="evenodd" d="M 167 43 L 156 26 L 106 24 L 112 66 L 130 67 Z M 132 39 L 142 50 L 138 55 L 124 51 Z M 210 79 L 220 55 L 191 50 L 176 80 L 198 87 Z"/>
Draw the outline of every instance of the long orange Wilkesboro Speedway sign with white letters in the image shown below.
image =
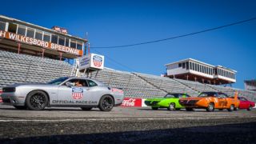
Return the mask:
<path id="1" fill-rule="evenodd" d="M 42 41 L 42 40 L 35 39 L 35 38 L 29 38 L 24 35 L 14 34 L 14 33 L 8 32 L 8 31 L 0 30 L 0 38 L 6 38 L 6 39 L 10 39 L 10 40 L 13 40 L 16 42 L 22 42 L 22 43 L 26 43 L 26 44 L 34 45 L 34 46 L 42 46 L 46 49 L 58 50 L 58 51 L 62 51 L 62 52 L 68 53 L 68 54 L 82 55 L 82 50 L 77 50 L 77 49 L 67 47 L 67 46 L 61 46 L 61 45 L 58 45 L 55 43 L 46 42 L 46 41 Z"/>

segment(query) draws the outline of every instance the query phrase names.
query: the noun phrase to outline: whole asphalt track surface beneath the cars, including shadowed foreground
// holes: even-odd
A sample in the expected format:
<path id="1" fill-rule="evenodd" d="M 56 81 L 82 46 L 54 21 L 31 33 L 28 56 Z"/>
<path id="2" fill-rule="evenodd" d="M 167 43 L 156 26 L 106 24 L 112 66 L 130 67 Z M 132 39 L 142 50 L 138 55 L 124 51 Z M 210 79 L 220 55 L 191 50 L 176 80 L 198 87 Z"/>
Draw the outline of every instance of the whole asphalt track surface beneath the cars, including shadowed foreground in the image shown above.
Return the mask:
<path id="1" fill-rule="evenodd" d="M 15 110 L 0 105 L 0 143 L 256 143 L 256 110 L 115 107 Z"/>

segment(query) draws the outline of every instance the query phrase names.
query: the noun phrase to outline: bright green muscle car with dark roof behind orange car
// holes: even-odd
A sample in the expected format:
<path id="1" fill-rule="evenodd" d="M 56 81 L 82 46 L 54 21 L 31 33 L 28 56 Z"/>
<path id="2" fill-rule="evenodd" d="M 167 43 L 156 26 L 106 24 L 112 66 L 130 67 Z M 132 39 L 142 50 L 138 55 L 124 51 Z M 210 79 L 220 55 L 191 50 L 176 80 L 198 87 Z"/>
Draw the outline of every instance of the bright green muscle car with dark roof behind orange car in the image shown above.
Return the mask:
<path id="1" fill-rule="evenodd" d="M 179 98 L 188 98 L 190 95 L 182 93 L 166 94 L 164 98 L 148 98 L 145 100 L 146 106 L 151 106 L 152 110 L 167 108 L 167 110 L 180 110 L 185 108 L 178 102 Z"/>

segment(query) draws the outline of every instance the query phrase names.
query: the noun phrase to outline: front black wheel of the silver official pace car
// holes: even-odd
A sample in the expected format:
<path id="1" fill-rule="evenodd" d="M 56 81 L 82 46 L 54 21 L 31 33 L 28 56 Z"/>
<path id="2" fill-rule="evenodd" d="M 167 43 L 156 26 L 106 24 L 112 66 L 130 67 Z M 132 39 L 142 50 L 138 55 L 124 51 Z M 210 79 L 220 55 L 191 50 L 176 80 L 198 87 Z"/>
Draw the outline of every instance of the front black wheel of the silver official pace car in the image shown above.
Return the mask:
<path id="1" fill-rule="evenodd" d="M 30 110 L 43 110 L 48 105 L 49 99 L 42 90 L 31 91 L 26 96 L 26 106 Z"/>

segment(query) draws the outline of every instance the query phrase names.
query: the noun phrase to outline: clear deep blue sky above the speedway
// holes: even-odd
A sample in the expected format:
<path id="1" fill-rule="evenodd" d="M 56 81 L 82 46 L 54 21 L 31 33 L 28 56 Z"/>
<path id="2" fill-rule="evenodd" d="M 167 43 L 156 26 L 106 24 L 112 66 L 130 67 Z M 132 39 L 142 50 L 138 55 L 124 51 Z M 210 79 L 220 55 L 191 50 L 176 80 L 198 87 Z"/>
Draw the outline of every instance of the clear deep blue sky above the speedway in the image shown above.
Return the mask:
<path id="1" fill-rule="evenodd" d="M 115 49 L 94 47 L 129 45 L 189 34 L 256 17 L 254 0 L 72 0 L 2 1 L 0 14 L 51 28 L 90 42 L 90 52 L 106 56 L 115 70 L 160 75 L 165 64 L 194 58 L 237 70 L 236 88 L 256 79 L 256 20 L 219 30 Z"/>

